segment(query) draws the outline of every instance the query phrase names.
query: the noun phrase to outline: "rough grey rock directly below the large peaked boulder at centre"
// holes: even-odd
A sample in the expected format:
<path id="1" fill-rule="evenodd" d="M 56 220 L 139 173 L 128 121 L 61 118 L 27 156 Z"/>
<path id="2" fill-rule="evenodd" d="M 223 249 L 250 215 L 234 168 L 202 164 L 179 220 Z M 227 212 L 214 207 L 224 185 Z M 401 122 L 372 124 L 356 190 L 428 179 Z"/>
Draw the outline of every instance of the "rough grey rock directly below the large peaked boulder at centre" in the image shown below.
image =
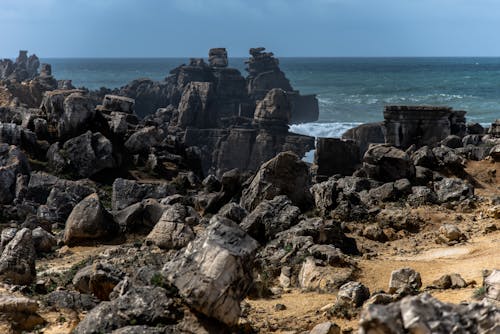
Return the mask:
<path id="1" fill-rule="evenodd" d="M 251 237 L 266 244 L 277 233 L 285 231 L 299 222 L 300 209 L 292 205 L 286 196 L 264 200 L 243 219 L 240 226 Z"/>

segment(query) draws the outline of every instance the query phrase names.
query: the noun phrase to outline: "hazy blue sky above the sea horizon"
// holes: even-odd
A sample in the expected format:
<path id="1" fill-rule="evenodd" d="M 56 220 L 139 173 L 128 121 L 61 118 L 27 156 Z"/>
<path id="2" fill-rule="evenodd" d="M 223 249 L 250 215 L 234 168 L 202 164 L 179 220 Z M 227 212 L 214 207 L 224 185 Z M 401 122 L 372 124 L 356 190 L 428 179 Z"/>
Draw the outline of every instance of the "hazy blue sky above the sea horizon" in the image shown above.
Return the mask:
<path id="1" fill-rule="evenodd" d="M 498 0 L 0 0 L 0 57 L 500 56 Z"/>

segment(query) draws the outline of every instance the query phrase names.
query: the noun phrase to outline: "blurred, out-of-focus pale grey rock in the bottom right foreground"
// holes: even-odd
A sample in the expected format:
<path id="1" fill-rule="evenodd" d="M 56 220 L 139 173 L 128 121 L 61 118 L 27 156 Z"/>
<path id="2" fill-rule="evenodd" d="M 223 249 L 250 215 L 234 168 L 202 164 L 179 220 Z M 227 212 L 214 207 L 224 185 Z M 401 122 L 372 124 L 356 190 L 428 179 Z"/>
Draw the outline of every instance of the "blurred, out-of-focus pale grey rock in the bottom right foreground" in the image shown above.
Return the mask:
<path id="1" fill-rule="evenodd" d="M 360 334 L 493 334 L 500 311 L 486 302 L 447 304 L 424 293 L 389 305 L 370 305 L 361 315 Z"/>

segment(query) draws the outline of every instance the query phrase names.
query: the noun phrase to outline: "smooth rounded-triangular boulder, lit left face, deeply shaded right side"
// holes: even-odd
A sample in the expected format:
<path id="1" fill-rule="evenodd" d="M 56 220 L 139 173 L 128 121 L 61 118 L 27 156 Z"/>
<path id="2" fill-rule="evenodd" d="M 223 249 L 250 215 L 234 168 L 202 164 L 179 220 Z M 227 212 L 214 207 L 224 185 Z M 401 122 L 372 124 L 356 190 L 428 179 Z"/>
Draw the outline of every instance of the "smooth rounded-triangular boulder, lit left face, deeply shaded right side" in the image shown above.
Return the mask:
<path id="1" fill-rule="evenodd" d="M 64 243 L 73 245 L 82 241 L 112 238 L 118 229 L 118 224 L 99 201 L 99 196 L 91 194 L 71 211 L 64 229 Z"/>

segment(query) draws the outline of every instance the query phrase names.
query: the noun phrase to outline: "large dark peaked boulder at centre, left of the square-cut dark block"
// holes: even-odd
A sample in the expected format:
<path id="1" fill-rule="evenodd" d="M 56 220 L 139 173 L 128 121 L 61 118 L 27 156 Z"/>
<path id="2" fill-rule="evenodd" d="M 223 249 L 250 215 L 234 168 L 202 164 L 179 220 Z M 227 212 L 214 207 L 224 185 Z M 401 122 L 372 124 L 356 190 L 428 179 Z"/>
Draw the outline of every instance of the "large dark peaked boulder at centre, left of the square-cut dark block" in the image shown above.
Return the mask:
<path id="1" fill-rule="evenodd" d="M 306 210 L 312 205 L 311 176 L 305 162 L 292 152 L 282 152 L 264 163 L 243 190 L 241 205 L 252 211 L 263 200 L 286 195 L 294 205 Z"/>

